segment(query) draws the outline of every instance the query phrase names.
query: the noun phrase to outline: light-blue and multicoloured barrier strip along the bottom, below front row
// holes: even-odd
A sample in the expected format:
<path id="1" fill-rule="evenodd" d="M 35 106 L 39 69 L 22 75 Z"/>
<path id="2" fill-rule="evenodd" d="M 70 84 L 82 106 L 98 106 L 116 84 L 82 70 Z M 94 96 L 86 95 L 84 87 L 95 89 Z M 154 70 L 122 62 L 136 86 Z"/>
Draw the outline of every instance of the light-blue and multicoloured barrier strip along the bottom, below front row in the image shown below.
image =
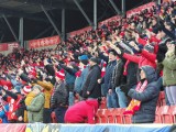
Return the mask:
<path id="1" fill-rule="evenodd" d="M 170 124 L 0 124 L 0 132 L 170 132 Z"/>

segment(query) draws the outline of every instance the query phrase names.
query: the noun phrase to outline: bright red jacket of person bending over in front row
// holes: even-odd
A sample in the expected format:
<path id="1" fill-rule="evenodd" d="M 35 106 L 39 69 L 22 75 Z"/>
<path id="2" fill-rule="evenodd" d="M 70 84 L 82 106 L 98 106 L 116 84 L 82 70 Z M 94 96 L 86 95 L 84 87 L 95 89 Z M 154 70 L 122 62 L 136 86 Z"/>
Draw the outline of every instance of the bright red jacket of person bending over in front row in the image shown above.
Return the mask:
<path id="1" fill-rule="evenodd" d="M 65 122 L 68 123 L 82 123 L 85 120 L 88 123 L 95 123 L 95 116 L 98 110 L 97 99 L 88 99 L 80 101 L 73 107 L 68 108 L 65 113 Z"/>

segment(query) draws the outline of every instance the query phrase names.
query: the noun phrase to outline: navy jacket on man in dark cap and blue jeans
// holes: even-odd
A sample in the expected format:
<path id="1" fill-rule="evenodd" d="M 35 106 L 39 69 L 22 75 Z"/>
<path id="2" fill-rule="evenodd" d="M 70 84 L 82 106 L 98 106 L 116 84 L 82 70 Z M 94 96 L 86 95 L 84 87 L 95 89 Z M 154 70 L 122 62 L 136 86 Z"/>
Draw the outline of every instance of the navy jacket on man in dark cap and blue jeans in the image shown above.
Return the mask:
<path id="1" fill-rule="evenodd" d="M 102 78 L 103 88 L 107 90 L 112 89 L 112 72 L 114 69 L 114 66 L 117 65 L 117 61 L 112 61 L 108 64 L 106 68 L 106 75 Z"/>

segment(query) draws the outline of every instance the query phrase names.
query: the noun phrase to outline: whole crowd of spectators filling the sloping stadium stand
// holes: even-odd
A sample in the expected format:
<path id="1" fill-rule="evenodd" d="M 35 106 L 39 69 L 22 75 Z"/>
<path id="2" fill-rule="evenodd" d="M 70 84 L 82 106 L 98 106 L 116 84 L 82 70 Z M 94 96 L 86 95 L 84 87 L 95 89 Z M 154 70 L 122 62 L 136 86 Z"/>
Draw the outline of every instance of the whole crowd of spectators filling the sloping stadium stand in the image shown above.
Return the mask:
<path id="1" fill-rule="evenodd" d="M 143 10 L 62 42 L 55 50 L 0 55 L 2 123 L 80 123 L 99 99 L 152 123 L 161 90 L 176 105 L 176 2 Z M 75 102 L 77 100 L 78 102 Z"/>

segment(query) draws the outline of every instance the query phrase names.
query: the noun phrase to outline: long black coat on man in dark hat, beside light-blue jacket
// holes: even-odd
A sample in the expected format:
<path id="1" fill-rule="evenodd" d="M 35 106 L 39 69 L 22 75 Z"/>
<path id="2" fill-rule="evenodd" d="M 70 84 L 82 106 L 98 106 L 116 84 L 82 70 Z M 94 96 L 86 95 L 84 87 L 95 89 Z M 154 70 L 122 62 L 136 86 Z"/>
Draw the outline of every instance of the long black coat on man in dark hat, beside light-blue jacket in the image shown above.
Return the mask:
<path id="1" fill-rule="evenodd" d="M 87 75 L 87 79 L 82 86 L 82 97 L 84 98 L 98 98 L 101 97 L 101 86 L 98 84 L 98 79 L 101 77 L 101 69 L 98 65 L 90 67 Z M 87 95 L 87 91 L 90 95 Z"/>

